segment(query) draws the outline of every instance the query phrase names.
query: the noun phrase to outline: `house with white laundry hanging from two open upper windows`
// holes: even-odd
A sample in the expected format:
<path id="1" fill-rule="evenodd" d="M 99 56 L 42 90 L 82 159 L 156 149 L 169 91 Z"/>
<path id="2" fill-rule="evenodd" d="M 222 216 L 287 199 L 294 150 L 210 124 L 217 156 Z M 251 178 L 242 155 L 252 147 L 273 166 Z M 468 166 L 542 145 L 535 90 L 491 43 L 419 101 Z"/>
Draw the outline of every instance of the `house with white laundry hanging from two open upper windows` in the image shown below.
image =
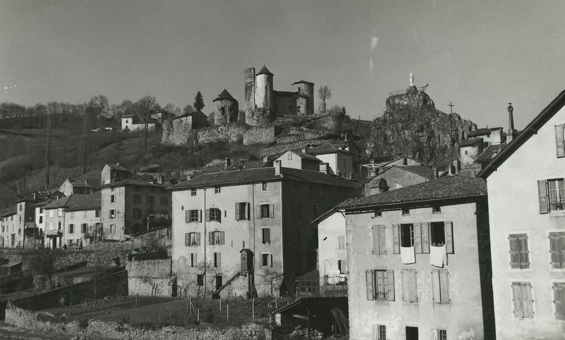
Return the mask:
<path id="1" fill-rule="evenodd" d="M 335 209 L 351 339 L 493 338 L 484 180 L 449 174 Z"/>

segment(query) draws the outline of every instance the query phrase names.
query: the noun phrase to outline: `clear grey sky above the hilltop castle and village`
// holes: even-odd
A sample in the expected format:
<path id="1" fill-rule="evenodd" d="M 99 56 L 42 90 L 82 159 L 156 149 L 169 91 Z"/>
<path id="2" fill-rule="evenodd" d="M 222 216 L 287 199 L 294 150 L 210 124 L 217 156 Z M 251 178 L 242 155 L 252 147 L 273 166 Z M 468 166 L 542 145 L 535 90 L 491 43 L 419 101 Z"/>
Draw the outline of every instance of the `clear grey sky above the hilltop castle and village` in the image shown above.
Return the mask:
<path id="1" fill-rule="evenodd" d="M 264 64 L 351 117 L 381 116 L 413 72 L 437 109 L 507 128 L 511 102 L 520 129 L 565 89 L 565 1 L 0 0 L 0 34 L 0 101 L 21 105 L 201 91 L 209 113 L 225 88 L 244 108 Z"/>

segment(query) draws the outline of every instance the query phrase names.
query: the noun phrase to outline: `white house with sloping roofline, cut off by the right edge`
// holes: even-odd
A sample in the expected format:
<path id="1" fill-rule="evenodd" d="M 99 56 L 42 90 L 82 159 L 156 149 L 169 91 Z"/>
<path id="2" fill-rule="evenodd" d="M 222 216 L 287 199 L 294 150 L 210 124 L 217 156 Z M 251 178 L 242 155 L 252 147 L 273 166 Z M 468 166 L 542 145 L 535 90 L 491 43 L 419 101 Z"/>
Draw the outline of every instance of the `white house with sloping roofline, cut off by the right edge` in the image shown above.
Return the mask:
<path id="1" fill-rule="evenodd" d="M 477 174 L 488 183 L 497 339 L 565 334 L 564 107 L 565 91 Z"/>

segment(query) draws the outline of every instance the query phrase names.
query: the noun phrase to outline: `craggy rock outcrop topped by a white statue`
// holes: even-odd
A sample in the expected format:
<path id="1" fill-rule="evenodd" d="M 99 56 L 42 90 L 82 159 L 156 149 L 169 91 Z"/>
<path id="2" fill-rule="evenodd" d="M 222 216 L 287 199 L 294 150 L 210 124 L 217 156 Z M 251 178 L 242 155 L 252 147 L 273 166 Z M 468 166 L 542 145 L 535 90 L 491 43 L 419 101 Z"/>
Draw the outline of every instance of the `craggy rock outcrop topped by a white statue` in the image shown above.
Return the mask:
<path id="1" fill-rule="evenodd" d="M 389 96 L 386 110 L 375 118 L 367 152 L 374 157 L 403 154 L 436 162 L 459 156 L 459 143 L 476 129 L 459 114 L 436 109 L 433 100 L 415 86 Z"/>

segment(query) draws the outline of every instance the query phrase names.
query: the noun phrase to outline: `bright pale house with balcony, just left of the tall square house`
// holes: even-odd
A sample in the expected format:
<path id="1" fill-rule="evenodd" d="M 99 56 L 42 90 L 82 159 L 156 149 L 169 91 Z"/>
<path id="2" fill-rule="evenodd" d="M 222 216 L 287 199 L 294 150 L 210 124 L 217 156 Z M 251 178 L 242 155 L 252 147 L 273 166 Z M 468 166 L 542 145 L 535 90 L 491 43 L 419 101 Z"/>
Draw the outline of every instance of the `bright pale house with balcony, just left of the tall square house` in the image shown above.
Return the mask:
<path id="1" fill-rule="evenodd" d="M 45 246 L 81 247 L 101 232 L 100 193 L 72 194 L 43 206 Z"/>

